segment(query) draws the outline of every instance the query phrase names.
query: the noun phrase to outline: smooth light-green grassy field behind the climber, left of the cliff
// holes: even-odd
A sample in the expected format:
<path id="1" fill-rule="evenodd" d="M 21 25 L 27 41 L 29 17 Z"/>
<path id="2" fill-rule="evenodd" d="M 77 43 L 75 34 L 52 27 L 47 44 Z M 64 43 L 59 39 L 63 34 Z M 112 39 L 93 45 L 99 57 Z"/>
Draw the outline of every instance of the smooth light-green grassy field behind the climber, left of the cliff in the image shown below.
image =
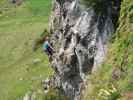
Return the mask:
<path id="1" fill-rule="evenodd" d="M 51 0 L 27 0 L 15 8 L 0 0 L 0 100 L 22 100 L 29 90 L 41 94 L 40 81 L 52 71 L 41 50 L 32 52 L 32 44 L 47 27 L 50 5 Z M 33 64 L 34 59 L 41 62 Z"/>

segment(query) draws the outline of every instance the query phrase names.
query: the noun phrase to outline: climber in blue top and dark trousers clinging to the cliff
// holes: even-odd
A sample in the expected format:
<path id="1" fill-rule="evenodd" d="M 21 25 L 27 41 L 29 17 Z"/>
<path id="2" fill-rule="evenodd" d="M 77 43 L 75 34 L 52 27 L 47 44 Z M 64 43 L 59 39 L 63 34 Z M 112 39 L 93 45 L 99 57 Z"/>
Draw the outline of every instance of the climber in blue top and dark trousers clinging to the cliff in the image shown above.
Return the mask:
<path id="1" fill-rule="evenodd" d="M 51 60 L 54 51 L 53 51 L 52 45 L 49 43 L 49 37 L 45 38 L 45 41 L 43 43 L 43 51 L 45 51 L 48 54 Z"/>

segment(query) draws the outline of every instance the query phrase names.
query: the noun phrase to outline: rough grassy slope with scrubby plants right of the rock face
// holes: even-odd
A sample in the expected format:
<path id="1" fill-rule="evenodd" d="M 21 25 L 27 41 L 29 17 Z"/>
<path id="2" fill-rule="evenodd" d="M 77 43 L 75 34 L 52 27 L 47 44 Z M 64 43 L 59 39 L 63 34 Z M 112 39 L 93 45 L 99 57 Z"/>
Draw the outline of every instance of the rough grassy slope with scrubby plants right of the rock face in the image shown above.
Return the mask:
<path id="1" fill-rule="evenodd" d="M 92 75 L 84 100 L 132 100 L 133 92 L 133 1 L 123 0 L 119 28 L 101 70 Z M 121 71 L 121 69 L 123 71 Z M 116 74 L 112 74 L 117 71 Z M 115 75 L 116 78 L 112 76 Z M 111 92 L 112 91 L 112 92 Z M 120 97 L 119 97 L 120 96 Z"/>

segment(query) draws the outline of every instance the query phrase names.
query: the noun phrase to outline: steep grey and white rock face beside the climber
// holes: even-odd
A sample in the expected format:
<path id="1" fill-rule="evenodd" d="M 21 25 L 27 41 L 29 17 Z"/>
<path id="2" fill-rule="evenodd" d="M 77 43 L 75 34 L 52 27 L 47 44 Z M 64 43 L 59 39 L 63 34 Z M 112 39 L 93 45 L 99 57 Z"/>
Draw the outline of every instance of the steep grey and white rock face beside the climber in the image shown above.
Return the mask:
<path id="1" fill-rule="evenodd" d="M 107 42 L 115 30 L 113 17 L 119 13 L 119 6 L 113 5 L 112 0 L 104 0 L 105 9 L 99 11 L 81 2 L 53 0 L 50 19 L 54 82 L 70 100 L 80 99 L 85 76 L 103 61 Z"/>

